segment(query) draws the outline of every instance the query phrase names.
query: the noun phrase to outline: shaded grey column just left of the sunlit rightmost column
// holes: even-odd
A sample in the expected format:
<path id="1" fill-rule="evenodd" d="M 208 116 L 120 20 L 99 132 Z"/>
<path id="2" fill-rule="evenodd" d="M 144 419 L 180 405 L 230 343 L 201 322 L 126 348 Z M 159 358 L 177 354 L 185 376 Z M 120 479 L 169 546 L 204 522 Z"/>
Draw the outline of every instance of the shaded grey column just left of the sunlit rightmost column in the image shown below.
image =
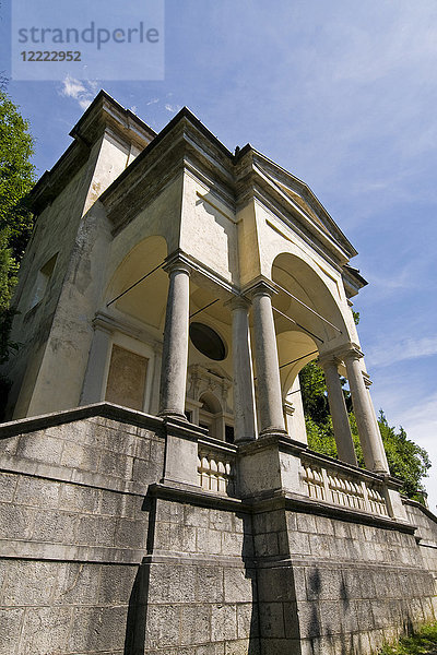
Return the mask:
<path id="1" fill-rule="evenodd" d="M 339 460 L 353 466 L 357 466 L 354 442 L 352 441 L 351 426 L 346 412 L 346 404 L 339 377 L 338 360 L 331 358 L 320 358 L 320 366 L 324 372 L 324 380 L 328 389 L 329 409 L 334 428 L 334 437 Z"/>

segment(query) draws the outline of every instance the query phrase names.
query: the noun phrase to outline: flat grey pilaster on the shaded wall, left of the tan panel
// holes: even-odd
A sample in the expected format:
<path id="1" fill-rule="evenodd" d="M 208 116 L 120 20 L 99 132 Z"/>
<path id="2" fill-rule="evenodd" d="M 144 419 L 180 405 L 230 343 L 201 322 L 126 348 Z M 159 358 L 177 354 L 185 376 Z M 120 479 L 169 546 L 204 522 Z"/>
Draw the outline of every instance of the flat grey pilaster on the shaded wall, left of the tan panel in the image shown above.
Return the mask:
<path id="1" fill-rule="evenodd" d="M 83 382 L 80 405 L 99 403 L 105 398 L 103 388 L 105 381 L 106 366 L 110 349 L 113 333 L 110 327 L 99 319 L 93 322 L 94 334 L 91 343 L 88 364 Z"/>

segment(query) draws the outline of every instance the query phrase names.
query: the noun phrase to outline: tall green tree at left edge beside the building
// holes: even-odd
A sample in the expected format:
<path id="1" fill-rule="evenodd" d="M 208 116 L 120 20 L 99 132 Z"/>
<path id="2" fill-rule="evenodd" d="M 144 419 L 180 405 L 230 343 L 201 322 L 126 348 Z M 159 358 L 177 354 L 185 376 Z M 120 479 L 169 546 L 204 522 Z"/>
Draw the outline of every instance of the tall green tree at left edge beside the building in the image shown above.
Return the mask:
<path id="1" fill-rule="evenodd" d="M 28 123 L 4 91 L 0 91 L 0 362 L 8 359 L 10 307 L 20 261 L 28 241 L 33 217 L 27 200 L 35 181 L 29 162 L 34 140 Z"/>

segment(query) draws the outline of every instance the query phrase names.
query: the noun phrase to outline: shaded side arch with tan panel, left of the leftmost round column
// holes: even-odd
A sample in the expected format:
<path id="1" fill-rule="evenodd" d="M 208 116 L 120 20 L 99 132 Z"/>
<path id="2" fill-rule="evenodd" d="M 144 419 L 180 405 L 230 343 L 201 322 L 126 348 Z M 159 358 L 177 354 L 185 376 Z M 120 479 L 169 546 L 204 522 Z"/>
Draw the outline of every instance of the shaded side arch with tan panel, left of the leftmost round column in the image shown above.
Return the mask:
<path id="1" fill-rule="evenodd" d="M 156 343 L 162 340 L 168 288 L 160 264 L 166 255 L 165 239 L 155 236 L 120 258 L 94 320 L 82 404 L 106 400 L 157 412 Z"/>

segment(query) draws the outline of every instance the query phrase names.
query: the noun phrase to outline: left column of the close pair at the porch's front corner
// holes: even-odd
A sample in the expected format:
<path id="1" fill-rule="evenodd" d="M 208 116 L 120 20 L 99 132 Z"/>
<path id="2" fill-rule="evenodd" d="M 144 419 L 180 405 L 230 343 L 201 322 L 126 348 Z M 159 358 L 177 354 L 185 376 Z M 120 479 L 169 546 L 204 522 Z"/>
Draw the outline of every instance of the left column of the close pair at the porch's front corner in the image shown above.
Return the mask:
<path id="1" fill-rule="evenodd" d="M 243 298 L 233 298 L 229 307 L 233 318 L 234 433 L 235 443 L 240 443 L 257 436 L 249 306 Z"/>

